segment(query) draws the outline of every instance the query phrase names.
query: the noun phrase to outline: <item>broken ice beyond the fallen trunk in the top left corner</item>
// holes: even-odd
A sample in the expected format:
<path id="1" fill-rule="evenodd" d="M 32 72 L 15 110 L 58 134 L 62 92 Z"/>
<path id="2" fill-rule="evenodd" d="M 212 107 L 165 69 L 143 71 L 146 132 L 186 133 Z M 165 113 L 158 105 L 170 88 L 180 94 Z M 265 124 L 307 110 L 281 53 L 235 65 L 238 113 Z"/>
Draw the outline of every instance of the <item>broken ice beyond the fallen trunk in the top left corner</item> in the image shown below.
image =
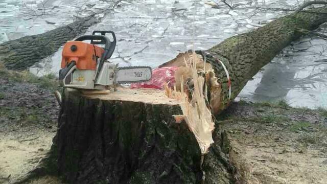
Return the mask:
<path id="1" fill-rule="evenodd" d="M 0 1 L 0 43 L 26 35 L 44 33 L 67 25 L 76 16 L 87 16 L 110 8 L 112 2 L 100 0 L 2 0 Z M 101 5 L 88 7 L 88 4 Z M 6 37 L 2 35 L 6 34 Z"/>

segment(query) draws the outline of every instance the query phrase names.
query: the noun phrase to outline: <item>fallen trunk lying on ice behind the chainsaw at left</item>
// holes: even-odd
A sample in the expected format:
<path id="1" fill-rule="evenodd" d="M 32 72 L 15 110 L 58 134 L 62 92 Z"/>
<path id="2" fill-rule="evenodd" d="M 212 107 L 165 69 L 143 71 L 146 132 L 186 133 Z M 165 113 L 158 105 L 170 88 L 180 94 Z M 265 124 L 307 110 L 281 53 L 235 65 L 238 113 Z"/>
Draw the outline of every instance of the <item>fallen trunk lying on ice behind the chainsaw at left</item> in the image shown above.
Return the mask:
<path id="1" fill-rule="evenodd" d="M 98 22 L 94 14 L 49 32 L 4 42 L 0 44 L 0 63 L 10 70 L 24 70 L 52 55 L 65 42 L 84 34 L 88 27 Z"/>

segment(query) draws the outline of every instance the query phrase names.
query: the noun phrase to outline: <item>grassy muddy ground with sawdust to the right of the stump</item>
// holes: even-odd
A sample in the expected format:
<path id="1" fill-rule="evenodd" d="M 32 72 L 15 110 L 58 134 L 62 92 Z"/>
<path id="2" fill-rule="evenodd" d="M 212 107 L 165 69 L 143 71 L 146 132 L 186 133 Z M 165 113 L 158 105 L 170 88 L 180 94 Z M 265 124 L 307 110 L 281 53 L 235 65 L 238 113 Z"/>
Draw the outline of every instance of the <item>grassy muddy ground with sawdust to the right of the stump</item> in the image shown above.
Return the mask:
<path id="1" fill-rule="evenodd" d="M 326 111 L 234 103 L 221 121 L 230 158 L 248 183 L 325 183 Z"/>

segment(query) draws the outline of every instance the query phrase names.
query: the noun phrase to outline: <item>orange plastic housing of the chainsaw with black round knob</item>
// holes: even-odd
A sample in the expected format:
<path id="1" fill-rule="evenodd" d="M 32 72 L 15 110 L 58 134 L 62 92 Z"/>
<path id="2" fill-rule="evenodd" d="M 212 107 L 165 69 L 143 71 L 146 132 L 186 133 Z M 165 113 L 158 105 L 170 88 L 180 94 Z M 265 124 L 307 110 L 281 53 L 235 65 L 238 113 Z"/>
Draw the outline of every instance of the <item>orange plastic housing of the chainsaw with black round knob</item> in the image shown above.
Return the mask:
<path id="1" fill-rule="evenodd" d="M 96 70 L 97 58 L 101 58 L 104 49 L 82 41 L 67 42 L 62 51 L 61 68 L 75 61 L 79 70 Z"/>

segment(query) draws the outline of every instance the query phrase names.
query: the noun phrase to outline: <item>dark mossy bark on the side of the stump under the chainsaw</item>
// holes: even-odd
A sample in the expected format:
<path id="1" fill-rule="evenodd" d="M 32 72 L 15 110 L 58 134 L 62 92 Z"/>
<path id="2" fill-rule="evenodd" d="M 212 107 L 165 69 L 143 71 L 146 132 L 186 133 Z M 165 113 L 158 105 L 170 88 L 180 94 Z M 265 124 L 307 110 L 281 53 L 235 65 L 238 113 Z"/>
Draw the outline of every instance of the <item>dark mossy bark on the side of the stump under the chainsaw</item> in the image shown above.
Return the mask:
<path id="1" fill-rule="evenodd" d="M 71 183 L 197 183 L 201 152 L 178 105 L 91 99 L 66 91 L 59 174 Z"/>

